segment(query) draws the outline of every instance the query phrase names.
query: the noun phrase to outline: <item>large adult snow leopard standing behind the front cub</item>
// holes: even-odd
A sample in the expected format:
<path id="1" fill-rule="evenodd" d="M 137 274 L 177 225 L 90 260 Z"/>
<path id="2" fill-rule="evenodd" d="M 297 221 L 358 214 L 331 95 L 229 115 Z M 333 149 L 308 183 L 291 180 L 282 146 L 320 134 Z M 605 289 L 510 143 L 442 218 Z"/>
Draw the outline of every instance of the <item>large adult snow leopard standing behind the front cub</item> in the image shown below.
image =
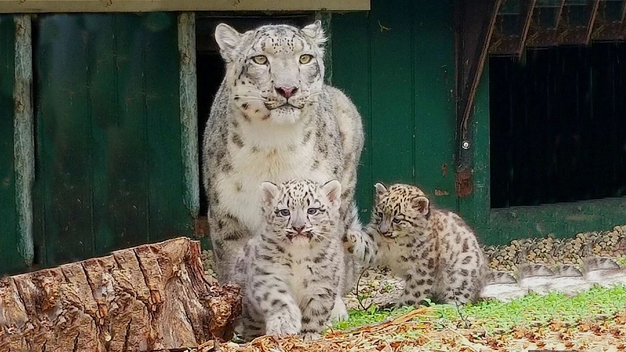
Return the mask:
<path id="1" fill-rule="evenodd" d="M 218 278 L 228 281 L 237 250 L 263 224 L 262 182 L 337 179 L 342 225 L 361 230 L 353 198 L 363 129 L 349 98 L 324 84 L 321 21 L 245 33 L 221 23 L 215 40 L 226 73 L 204 133 L 203 182 Z"/>

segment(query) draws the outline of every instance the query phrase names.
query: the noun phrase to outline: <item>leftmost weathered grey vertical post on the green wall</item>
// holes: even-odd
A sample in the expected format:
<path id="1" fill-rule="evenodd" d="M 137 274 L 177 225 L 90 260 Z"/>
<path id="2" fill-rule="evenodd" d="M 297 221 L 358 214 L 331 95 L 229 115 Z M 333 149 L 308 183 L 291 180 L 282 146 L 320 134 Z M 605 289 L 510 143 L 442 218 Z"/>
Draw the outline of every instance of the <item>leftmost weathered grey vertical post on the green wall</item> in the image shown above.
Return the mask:
<path id="1" fill-rule="evenodd" d="M 28 14 L 15 16 L 14 23 L 13 153 L 15 201 L 18 213 L 18 251 L 26 265 L 31 266 L 34 260 L 33 181 L 35 172 L 31 16 Z"/>

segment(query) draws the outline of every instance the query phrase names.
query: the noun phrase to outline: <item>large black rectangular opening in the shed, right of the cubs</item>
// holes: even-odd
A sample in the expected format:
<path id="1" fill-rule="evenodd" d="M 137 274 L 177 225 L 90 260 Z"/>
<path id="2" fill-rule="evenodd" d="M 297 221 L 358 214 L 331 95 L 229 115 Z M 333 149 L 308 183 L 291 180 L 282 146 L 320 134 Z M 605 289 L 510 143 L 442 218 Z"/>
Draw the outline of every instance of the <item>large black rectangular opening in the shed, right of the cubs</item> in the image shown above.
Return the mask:
<path id="1" fill-rule="evenodd" d="M 492 208 L 626 195 L 626 43 L 489 65 Z"/>

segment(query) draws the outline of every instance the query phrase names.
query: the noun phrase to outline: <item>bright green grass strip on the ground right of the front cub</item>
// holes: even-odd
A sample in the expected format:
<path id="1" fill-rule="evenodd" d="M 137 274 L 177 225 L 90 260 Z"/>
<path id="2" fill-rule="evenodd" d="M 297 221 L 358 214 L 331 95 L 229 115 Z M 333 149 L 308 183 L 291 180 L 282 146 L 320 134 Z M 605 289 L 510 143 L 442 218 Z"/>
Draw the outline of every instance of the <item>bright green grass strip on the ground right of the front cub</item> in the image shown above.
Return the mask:
<path id="1" fill-rule="evenodd" d="M 484 301 L 458 309 L 450 305 L 434 305 L 437 317 L 434 326 L 468 325 L 486 331 L 511 329 L 515 326 L 532 326 L 548 323 L 550 320 L 575 322 L 598 314 L 614 314 L 626 308 L 626 286 L 610 288 L 595 286 L 577 296 L 550 293 L 545 296 L 528 294 L 508 303 Z M 387 318 L 395 318 L 413 310 L 413 307 L 400 309 L 378 309 L 371 306 L 367 311 L 349 311 L 349 319 L 334 324 L 334 329 L 349 329 L 356 326 L 379 323 Z"/>

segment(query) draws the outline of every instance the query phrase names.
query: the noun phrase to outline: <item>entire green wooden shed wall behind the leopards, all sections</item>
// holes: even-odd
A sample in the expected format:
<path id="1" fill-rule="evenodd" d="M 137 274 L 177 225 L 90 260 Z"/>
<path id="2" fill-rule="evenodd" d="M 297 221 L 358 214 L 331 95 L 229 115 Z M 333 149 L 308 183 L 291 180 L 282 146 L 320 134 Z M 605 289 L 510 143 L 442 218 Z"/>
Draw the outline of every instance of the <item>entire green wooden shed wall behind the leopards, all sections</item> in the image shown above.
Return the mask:
<path id="1" fill-rule="evenodd" d="M 595 201 L 490 209 L 488 63 L 473 107 L 473 193 L 456 197 L 453 2 L 372 0 L 369 12 L 322 16 L 328 78 L 351 96 L 366 131 L 361 219 L 369 219 L 375 182 L 406 182 L 458 211 L 486 244 L 626 223 L 623 199 L 612 212 L 603 209 L 612 203 Z M 0 33 L 0 272 L 13 273 L 36 267 L 18 252 L 13 16 L 0 16 Z M 33 19 L 39 266 L 193 236 L 179 68 L 175 13 Z"/>

